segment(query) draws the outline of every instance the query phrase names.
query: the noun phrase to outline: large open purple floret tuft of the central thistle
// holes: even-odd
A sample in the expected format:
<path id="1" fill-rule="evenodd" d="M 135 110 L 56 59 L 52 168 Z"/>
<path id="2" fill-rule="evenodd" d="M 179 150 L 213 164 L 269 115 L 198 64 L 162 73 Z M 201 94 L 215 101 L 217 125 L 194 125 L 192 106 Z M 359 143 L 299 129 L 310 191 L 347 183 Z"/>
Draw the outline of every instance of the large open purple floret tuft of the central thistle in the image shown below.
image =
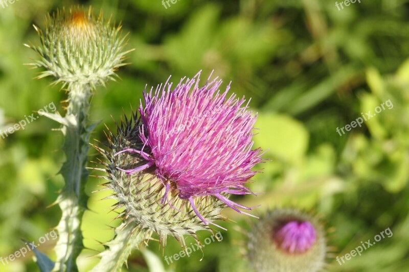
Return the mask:
<path id="1" fill-rule="evenodd" d="M 256 174 L 252 168 L 262 159 L 260 149 L 252 150 L 257 116 L 252 116 L 244 97 L 232 94 L 228 98 L 230 84 L 220 93 L 222 81 L 217 78 L 199 87 L 199 77 L 200 72 L 185 83 L 186 78 L 181 79 L 173 90 L 169 78 L 154 92 L 144 91 L 145 106 L 141 102 L 139 108 L 143 147 L 119 153 L 138 153 L 146 162 L 133 169 L 118 169 L 129 175 L 154 169 L 166 188 L 161 203 L 168 200 L 170 190 L 176 190 L 207 225 L 193 197 L 214 195 L 235 211 L 247 214 L 238 208 L 251 208 L 225 195 L 252 193 L 244 183 Z"/>

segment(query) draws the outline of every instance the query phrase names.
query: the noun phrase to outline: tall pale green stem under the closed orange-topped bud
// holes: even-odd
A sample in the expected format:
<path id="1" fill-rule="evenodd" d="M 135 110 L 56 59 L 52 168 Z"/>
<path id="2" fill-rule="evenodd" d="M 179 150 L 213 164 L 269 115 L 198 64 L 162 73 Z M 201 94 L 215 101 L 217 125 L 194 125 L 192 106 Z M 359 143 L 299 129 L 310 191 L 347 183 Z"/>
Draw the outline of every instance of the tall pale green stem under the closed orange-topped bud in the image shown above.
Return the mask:
<path id="1" fill-rule="evenodd" d="M 84 248 L 82 244 L 81 220 L 86 209 L 88 196 L 85 182 L 88 171 L 85 168 L 89 149 L 88 139 L 93 127 L 88 127 L 90 86 L 70 84 L 69 105 L 61 122 L 65 136 L 63 146 L 66 161 L 60 174 L 65 185 L 58 196 L 62 216 L 57 226 L 59 239 L 56 244 L 56 266 L 54 271 L 78 271 L 76 259 Z"/>

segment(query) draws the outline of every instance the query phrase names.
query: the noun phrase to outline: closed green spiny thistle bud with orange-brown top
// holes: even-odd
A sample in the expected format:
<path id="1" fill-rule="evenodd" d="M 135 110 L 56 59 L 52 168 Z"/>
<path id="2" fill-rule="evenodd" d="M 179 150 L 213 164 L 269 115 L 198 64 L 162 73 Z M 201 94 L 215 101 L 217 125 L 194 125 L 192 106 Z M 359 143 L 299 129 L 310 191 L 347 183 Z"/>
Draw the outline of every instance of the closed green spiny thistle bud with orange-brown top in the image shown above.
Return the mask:
<path id="1" fill-rule="evenodd" d="M 36 29 L 41 45 L 27 45 L 33 48 L 41 59 L 31 65 L 43 67 L 39 78 L 53 76 L 56 83 L 89 84 L 92 88 L 114 79 L 115 71 L 123 63 L 121 26 L 110 25 L 102 11 L 94 17 L 91 8 L 81 11 L 79 8 L 59 10 L 46 18 L 46 29 Z"/>

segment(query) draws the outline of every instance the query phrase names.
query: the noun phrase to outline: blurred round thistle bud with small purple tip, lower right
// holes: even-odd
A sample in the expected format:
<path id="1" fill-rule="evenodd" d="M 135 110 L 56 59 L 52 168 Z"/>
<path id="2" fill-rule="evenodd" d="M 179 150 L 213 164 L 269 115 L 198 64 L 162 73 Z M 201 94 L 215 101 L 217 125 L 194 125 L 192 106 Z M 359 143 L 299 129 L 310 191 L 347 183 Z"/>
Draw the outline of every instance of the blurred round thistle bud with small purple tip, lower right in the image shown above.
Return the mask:
<path id="1" fill-rule="evenodd" d="M 268 212 L 249 233 L 247 247 L 251 266 L 260 272 L 319 271 L 327 252 L 319 222 L 291 209 Z"/>

